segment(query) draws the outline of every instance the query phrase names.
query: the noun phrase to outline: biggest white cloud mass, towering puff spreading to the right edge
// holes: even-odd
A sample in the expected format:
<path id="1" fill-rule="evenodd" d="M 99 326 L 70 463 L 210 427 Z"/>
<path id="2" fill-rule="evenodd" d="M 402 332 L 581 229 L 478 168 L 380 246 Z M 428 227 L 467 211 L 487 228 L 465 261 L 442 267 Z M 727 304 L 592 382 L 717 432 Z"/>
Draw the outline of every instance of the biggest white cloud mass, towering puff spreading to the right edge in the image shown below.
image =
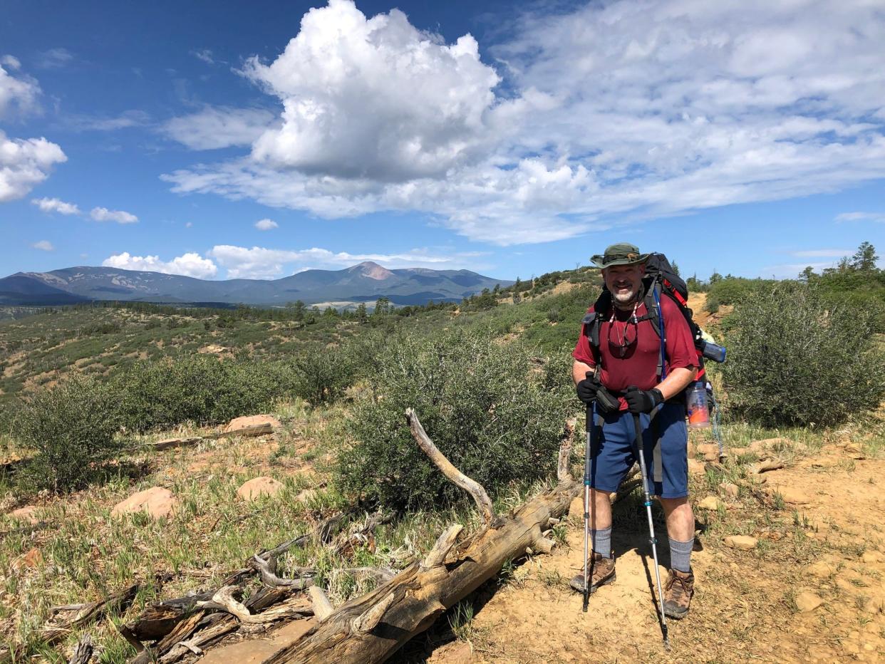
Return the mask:
<path id="1" fill-rule="evenodd" d="M 242 158 L 164 179 L 327 218 L 424 212 L 516 244 L 885 177 L 876 3 L 544 11 L 489 44 L 496 69 L 470 35 L 446 43 L 402 12 L 332 0 L 273 62 L 243 68 L 281 125 Z"/>

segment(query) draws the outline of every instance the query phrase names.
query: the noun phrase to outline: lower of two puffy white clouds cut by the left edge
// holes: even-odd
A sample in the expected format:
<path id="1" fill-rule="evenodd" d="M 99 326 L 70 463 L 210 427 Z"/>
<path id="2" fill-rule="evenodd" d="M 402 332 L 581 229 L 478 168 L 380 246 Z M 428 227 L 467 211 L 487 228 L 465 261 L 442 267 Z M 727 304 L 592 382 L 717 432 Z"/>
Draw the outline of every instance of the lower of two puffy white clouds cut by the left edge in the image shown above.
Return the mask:
<path id="1" fill-rule="evenodd" d="M 45 138 L 7 138 L 0 129 L 0 203 L 27 196 L 65 161 L 62 149 Z"/>

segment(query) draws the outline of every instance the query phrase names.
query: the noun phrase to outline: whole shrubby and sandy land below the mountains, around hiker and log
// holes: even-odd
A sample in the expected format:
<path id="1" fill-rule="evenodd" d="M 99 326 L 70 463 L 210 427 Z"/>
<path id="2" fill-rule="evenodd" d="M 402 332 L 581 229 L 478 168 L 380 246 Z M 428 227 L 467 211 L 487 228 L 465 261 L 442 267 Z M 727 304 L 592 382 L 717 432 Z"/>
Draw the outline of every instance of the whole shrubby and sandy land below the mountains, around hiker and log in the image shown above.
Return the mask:
<path id="1" fill-rule="evenodd" d="M 614 506 L 618 583 L 588 614 L 568 588 L 579 505 L 550 522 L 552 552 L 505 560 L 394 660 L 885 657 L 885 271 L 868 253 L 792 281 L 688 280 L 696 320 L 728 349 L 710 367 L 727 456 L 711 429 L 692 430 L 699 582 L 672 652 L 633 490 Z M 463 541 L 481 515 L 416 444 L 407 408 L 497 514 L 551 489 L 570 436 L 580 476 L 569 353 L 600 284 L 578 267 L 458 305 L 4 311 L 0 660 L 68 661 L 89 635 L 103 662 L 261 661 L 319 622 L 307 590 L 278 587 L 290 613 L 274 622 L 189 606 L 193 629 L 174 638 L 133 626 L 243 569 L 238 597 L 261 615 L 270 585 L 250 561 L 294 538 L 273 574 L 308 580 L 332 607 L 425 560 L 451 524 Z M 250 415 L 269 426 L 228 425 Z M 156 518 L 116 509 L 151 489 L 166 497 Z"/>

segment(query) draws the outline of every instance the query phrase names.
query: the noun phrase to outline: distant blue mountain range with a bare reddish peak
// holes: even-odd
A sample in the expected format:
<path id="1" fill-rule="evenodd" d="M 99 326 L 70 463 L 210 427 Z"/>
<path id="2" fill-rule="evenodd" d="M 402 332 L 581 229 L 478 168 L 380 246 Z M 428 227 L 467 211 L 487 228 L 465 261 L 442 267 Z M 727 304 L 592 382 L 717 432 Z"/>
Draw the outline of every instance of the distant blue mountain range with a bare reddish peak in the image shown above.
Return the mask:
<path id="1" fill-rule="evenodd" d="M 373 303 L 379 297 L 387 297 L 395 305 L 423 305 L 429 300 L 458 301 L 496 284 L 505 287 L 511 283 L 469 270 L 389 270 L 370 261 L 342 270 L 305 270 L 273 281 L 206 281 L 180 274 L 80 266 L 19 272 L 0 279 L 0 305 L 125 300 L 282 306 L 301 300 L 307 305 L 344 306 Z"/>

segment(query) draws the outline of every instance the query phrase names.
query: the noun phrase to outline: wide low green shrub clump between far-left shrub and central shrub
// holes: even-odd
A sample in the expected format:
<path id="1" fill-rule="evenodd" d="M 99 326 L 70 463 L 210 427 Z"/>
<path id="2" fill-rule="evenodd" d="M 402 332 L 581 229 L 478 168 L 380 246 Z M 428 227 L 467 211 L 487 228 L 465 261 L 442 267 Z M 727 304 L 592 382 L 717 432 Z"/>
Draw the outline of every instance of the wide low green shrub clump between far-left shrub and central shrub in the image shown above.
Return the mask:
<path id="1" fill-rule="evenodd" d="M 293 394 L 295 380 L 280 363 L 187 353 L 138 362 L 114 377 L 112 389 L 126 428 L 147 431 L 258 413 Z"/>

